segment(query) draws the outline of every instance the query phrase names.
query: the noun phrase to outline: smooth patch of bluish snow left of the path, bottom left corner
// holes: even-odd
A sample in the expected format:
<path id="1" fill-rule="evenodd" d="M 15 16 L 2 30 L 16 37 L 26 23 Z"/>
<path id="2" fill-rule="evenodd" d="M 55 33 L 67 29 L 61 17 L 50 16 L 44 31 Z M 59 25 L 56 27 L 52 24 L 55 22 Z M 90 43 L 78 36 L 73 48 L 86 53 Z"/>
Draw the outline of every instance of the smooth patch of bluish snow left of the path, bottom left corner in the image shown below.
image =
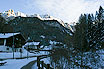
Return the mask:
<path id="1" fill-rule="evenodd" d="M 9 59 L 5 60 L 4 62 L 7 62 L 5 65 L 0 66 L 0 69 L 21 69 L 24 65 L 28 64 L 29 62 L 36 60 L 36 57 L 34 58 L 28 58 L 28 59 Z"/>

